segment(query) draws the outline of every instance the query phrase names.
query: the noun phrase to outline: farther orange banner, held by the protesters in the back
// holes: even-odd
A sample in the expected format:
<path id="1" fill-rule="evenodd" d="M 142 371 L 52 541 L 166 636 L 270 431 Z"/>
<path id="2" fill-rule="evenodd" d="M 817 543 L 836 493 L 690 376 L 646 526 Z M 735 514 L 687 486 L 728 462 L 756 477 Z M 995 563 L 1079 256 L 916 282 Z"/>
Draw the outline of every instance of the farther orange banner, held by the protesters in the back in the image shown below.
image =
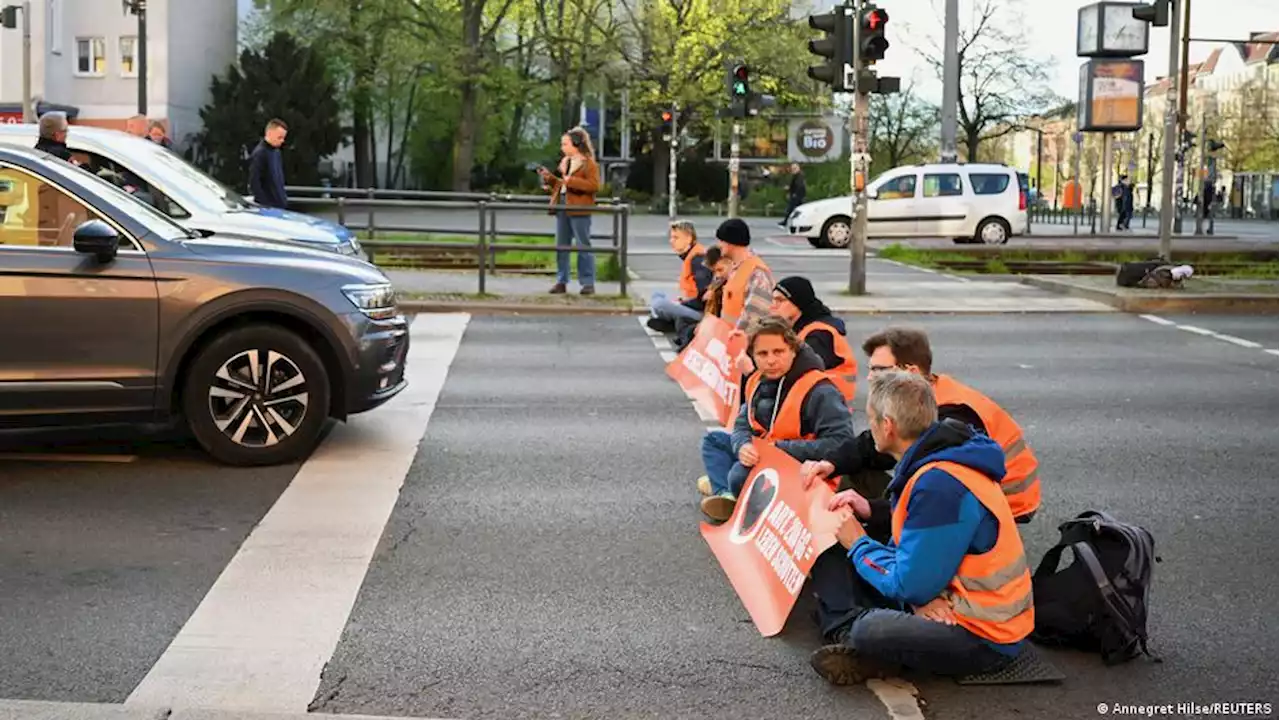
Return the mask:
<path id="1" fill-rule="evenodd" d="M 746 338 L 730 340 L 733 327 L 714 315 L 703 318 L 694 340 L 667 364 L 667 374 L 698 405 L 731 425 L 737 416 L 742 373 L 733 359 L 745 350 Z"/>

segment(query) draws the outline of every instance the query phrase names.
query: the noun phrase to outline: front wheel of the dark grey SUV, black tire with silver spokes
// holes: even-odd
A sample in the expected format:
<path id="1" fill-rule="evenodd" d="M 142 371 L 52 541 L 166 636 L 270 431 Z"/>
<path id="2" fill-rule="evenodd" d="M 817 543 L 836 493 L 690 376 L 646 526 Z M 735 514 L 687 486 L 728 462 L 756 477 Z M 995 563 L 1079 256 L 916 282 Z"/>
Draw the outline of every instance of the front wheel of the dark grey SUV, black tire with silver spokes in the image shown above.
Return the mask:
<path id="1" fill-rule="evenodd" d="M 209 455 L 228 465 L 306 457 L 329 419 L 329 372 L 320 355 L 278 325 L 246 325 L 215 337 L 183 380 L 187 427 Z"/>

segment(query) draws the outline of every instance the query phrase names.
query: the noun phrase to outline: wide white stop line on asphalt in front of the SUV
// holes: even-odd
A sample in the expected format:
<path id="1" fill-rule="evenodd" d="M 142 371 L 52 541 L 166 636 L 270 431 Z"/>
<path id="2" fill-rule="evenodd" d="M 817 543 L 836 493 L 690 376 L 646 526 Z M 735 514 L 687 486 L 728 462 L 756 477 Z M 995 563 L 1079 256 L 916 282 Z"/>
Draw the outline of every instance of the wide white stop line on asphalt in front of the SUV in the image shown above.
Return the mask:
<path id="1" fill-rule="evenodd" d="M 468 319 L 417 315 L 410 328 L 410 386 L 385 406 L 334 428 L 127 705 L 306 711 Z"/>

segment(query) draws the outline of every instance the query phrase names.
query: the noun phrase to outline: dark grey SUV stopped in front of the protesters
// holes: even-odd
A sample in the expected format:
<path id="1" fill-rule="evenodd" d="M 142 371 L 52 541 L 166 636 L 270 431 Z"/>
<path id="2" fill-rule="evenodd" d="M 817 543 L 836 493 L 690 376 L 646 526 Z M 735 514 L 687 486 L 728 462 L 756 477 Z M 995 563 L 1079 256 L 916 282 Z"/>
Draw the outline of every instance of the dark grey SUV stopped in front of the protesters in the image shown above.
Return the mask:
<path id="1" fill-rule="evenodd" d="M 0 428 L 180 418 L 215 459 L 268 465 L 404 388 L 407 323 L 378 268 L 195 234 L 0 147 Z"/>

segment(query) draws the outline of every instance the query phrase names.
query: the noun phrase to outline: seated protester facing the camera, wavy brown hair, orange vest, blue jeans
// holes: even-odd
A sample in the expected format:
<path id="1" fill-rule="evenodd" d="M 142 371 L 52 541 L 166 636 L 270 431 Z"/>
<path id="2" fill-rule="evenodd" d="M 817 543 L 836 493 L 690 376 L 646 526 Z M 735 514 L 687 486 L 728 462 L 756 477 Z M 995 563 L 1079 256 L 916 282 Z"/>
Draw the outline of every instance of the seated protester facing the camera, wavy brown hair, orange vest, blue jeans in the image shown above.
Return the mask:
<path id="1" fill-rule="evenodd" d="M 829 457 L 854 437 L 845 398 L 790 323 L 768 315 L 754 323 L 748 352 L 759 372 L 746 383 L 733 433 L 713 430 L 703 437 L 707 474 L 698 479 L 698 489 L 709 496 L 701 501 L 703 512 L 717 521 L 733 514 L 748 469 L 759 460 L 753 438 L 804 462 Z"/>

